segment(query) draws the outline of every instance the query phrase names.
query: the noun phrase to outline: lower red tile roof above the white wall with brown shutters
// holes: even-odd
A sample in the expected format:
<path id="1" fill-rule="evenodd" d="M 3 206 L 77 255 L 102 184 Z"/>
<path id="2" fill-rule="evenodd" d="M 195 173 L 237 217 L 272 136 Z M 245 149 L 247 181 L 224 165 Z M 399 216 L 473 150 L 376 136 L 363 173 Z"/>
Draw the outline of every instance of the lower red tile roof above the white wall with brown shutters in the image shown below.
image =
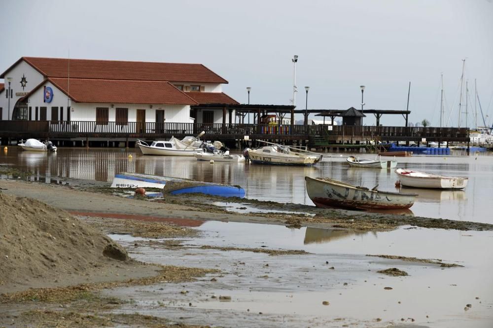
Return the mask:
<path id="1" fill-rule="evenodd" d="M 68 79 L 48 78 L 29 95 L 45 85 L 46 81 L 51 82 L 65 94 L 69 93 Z M 75 102 L 197 105 L 196 101 L 166 81 L 70 78 L 69 95 Z"/>

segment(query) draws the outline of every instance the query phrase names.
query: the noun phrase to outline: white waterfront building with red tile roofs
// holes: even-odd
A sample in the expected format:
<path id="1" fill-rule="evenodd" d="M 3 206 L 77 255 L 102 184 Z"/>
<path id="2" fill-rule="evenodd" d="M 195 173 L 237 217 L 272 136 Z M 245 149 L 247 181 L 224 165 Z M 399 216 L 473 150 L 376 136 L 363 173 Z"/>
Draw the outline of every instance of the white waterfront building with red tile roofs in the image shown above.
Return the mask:
<path id="1" fill-rule="evenodd" d="M 0 78 L 2 120 L 220 123 L 221 112 L 191 118 L 190 106 L 238 104 L 202 64 L 22 57 Z"/>

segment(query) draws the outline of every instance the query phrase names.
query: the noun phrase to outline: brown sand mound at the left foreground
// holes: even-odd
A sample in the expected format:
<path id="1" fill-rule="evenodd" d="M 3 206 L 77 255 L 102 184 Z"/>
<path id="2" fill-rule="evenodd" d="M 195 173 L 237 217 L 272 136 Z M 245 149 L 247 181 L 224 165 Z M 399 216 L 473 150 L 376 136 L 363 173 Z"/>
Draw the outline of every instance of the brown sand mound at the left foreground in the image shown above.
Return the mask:
<path id="1" fill-rule="evenodd" d="M 66 211 L 0 192 L 0 290 L 89 275 L 128 259 L 120 245 Z"/>

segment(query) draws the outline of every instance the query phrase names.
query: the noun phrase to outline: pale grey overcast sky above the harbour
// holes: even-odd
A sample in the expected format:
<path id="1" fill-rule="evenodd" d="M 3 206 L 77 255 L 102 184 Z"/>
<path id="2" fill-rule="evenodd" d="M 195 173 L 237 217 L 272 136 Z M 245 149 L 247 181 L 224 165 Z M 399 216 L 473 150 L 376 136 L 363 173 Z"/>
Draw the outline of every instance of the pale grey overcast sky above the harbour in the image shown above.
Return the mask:
<path id="1" fill-rule="evenodd" d="M 411 82 L 410 121 L 438 126 L 443 73 L 446 120 L 458 126 L 466 59 L 469 125 L 475 127 L 475 79 L 487 123 L 493 122 L 493 0 L 1 4 L 0 71 L 22 56 L 68 57 L 69 49 L 70 58 L 203 63 L 229 81 L 223 90 L 239 102 L 247 102 L 251 87 L 250 103 L 287 105 L 291 58 L 298 55 L 297 109 L 305 109 L 305 86 L 309 109 L 359 109 L 365 85 L 366 109 L 405 110 Z M 380 122 L 404 119 L 384 115 Z M 373 115 L 364 123 L 375 124 Z"/>

